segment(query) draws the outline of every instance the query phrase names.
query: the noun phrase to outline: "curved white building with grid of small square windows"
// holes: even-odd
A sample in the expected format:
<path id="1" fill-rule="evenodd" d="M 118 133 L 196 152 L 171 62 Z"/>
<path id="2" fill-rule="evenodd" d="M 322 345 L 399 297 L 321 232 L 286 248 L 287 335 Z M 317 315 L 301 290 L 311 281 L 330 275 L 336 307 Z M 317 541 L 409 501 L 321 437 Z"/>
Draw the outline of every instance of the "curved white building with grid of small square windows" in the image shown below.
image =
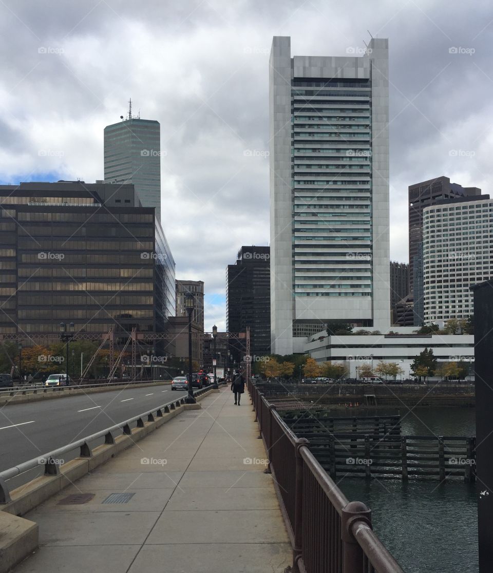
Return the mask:
<path id="1" fill-rule="evenodd" d="M 493 276 L 493 200 L 452 199 L 423 210 L 424 324 L 467 319 L 471 285 Z"/>

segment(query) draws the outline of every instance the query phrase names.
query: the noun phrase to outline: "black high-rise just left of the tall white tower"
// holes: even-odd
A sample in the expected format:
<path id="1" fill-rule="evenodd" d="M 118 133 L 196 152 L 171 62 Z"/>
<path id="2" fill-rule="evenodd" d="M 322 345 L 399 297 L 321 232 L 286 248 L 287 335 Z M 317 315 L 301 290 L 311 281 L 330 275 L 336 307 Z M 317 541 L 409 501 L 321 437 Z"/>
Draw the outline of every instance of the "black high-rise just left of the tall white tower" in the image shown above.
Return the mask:
<path id="1" fill-rule="evenodd" d="M 271 352 L 270 249 L 242 246 L 236 264 L 226 269 L 226 330 L 245 332 L 250 328 L 250 352 Z M 230 343 L 234 359 L 244 355 L 243 344 Z"/>

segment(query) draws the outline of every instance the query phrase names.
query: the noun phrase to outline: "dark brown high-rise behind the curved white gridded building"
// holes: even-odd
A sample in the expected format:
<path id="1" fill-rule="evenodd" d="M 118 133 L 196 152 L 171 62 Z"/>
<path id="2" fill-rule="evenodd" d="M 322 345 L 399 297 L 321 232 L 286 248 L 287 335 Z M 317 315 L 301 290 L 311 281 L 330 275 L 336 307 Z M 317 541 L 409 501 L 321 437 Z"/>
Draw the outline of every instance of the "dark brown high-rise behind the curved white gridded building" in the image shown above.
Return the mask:
<path id="1" fill-rule="evenodd" d="M 422 214 L 425 207 L 443 199 L 460 199 L 481 195 L 478 187 L 462 187 L 445 176 L 409 185 L 409 292 L 413 292 L 414 257 L 422 240 Z M 414 299 L 416 303 L 416 299 Z"/>

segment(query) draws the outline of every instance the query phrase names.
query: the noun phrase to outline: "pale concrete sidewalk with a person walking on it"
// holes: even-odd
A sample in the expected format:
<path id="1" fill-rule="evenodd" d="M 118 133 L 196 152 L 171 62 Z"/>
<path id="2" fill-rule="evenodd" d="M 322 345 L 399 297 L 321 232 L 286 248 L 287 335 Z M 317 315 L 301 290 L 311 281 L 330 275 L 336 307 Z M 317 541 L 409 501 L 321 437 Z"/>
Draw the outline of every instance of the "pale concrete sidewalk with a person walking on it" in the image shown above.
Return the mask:
<path id="1" fill-rule="evenodd" d="M 291 563 L 247 393 L 229 388 L 178 415 L 25 517 L 40 549 L 16 573 L 282 573 Z M 150 460 L 142 463 L 142 460 Z M 58 505 L 92 493 L 81 505 Z M 102 503 L 112 493 L 127 503 Z"/>

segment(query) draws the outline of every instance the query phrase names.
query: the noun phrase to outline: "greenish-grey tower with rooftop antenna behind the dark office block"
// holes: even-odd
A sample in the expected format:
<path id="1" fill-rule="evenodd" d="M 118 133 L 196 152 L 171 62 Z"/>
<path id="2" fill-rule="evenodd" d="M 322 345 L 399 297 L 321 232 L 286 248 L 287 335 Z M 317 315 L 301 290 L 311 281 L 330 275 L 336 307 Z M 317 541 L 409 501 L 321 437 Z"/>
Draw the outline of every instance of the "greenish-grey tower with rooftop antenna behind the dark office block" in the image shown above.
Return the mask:
<path id="1" fill-rule="evenodd" d="M 133 117 L 104 128 L 104 180 L 132 183 L 143 207 L 161 221 L 161 127 Z"/>

